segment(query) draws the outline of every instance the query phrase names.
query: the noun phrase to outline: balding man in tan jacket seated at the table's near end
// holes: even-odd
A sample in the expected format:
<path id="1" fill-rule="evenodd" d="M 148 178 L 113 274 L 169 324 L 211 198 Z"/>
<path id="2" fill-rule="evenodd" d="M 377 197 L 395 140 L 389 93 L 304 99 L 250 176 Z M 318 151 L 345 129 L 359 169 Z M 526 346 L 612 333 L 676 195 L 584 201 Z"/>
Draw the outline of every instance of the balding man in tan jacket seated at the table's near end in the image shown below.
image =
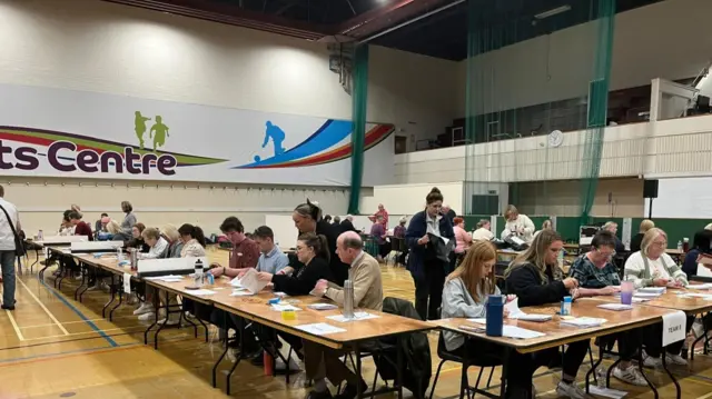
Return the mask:
<path id="1" fill-rule="evenodd" d="M 346 231 L 336 240 L 336 252 L 339 259 L 350 265 L 348 278 L 354 283 L 354 308 L 383 309 L 383 283 L 380 281 L 380 268 L 378 261 L 363 251 L 364 242 L 358 233 Z M 344 306 L 344 290 L 326 280 L 319 280 L 313 291 L 332 299 L 339 306 Z M 356 397 L 356 385 L 360 383 L 362 391 L 366 390 L 366 382 L 360 376 L 356 376 L 339 359 L 343 351 L 329 349 L 319 343 L 304 341 L 304 362 L 307 378 L 314 380 L 314 390 L 308 398 L 330 398 L 332 393 L 326 387 L 325 378 L 333 385 L 347 381 L 344 392 L 337 398 L 353 399 Z"/>

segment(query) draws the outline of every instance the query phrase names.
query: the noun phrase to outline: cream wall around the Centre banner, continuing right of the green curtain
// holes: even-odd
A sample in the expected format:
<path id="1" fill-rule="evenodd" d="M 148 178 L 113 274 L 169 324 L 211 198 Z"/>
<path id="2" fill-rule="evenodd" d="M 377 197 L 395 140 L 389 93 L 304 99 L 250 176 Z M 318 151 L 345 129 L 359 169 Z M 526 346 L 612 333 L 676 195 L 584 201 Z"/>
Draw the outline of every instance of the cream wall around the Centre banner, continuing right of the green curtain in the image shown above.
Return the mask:
<path id="1" fill-rule="evenodd" d="M 328 69 L 325 43 L 97 0 L 0 0 L 0 83 L 337 119 L 352 116 L 352 98 Z M 453 112 L 445 100 L 454 90 L 454 78 L 447 73 L 454 62 L 377 47 L 370 62 L 368 119 L 395 123 L 416 136 L 449 124 Z M 437 82 L 438 74 L 444 82 Z M 112 181 L 99 181 L 98 187 L 83 181 L 79 188 L 78 179 L 3 179 L 0 184 L 11 181 L 7 196 L 20 207 L 28 232 L 56 229 L 59 215 L 72 202 L 87 210 L 88 221 L 102 211 L 115 216 L 119 202 L 130 200 L 149 225 L 190 221 L 208 231 L 217 230 L 229 215 L 255 228 L 265 212 L 289 212 L 306 197 L 326 198 L 327 213 L 345 213 L 347 207 L 347 191 L 318 186 L 276 187 L 279 194 L 273 196 L 269 186 L 259 193 L 248 192 L 246 186 L 219 184 L 228 187 L 227 194 L 209 191 L 209 183 L 195 192 L 155 183 L 135 191 L 135 183 L 126 189 L 126 183 L 111 187 Z"/>

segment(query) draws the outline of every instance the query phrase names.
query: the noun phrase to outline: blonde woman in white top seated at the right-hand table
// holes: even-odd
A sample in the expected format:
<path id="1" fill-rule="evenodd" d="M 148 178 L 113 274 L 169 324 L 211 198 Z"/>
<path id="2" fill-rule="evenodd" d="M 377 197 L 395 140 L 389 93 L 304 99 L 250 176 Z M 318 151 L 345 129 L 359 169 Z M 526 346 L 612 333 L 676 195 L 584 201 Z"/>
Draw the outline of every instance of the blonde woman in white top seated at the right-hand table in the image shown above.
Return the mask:
<path id="1" fill-rule="evenodd" d="M 641 250 L 632 253 L 625 261 L 624 278 L 633 281 L 635 288 L 642 287 L 686 287 L 688 276 L 672 258 L 665 253 L 668 235 L 657 228 L 649 229 L 641 241 Z M 694 316 L 688 317 L 686 330 L 690 332 Z M 662 327 L 653 325 L 645 335 L 645 352 L 643 362 L 646 367 L 657 367 L 662 363 Z M 688 360 L 680 356 L 684 340 L 674 342 L 665 348 L 665 360 L 673 365 L 685 366 Z"/>

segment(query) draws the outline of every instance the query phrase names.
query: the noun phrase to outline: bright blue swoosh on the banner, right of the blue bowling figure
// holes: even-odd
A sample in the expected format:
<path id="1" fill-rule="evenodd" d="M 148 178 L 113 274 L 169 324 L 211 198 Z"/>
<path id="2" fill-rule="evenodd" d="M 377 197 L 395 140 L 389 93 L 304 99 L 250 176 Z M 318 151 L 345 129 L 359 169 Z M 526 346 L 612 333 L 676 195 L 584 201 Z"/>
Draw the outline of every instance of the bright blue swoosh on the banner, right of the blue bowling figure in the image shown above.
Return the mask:
<path id="1" fill-rule="evenodd" d="M 271 166 L 313 156 L 337 144 L 339 141 L 348 137 L 348 134 L 352 133 L 352 121 L 328 120 L 314 134 L 309 136 L 306 140 L 285 151 L 284 153 L 260 160 L 259 162 L 247 163 L 239 167 L 234 167 L 231 169 Z"/>

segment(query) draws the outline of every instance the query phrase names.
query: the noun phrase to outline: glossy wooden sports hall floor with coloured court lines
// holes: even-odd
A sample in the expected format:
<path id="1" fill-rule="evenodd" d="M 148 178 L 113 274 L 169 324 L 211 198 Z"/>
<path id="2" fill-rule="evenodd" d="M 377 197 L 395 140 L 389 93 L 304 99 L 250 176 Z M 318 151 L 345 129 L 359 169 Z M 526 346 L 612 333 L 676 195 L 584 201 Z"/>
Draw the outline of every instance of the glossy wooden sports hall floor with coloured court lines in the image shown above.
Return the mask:
<path id="1" fill-rule="evenodd" d="M 226 252 L 211 251 L 211 258 Z M 413 300 L 413 281 L 403 268 L 383 267 L 385 295 Z M 49 275 L 49 273 L 48 273 Z M 192 338 L 190 329 L 161 332 L 160 350 L 144 346 L 145 326 L 131 315 L 134 307 L 123 306 L 113 322 L 101 318 L 108 296 L 88 292 L 83 303 L 72 299 L 76 282 L 61 292 L 44 285 L 34 273 L 18 279 L 17 310 L 0 312 L 0 399 L 9 398 L 225 398 L 221 389 L 210 386 L 210 370 L 221 352 L 216 331 L 210 343 Z M 437 333 L 429 335 L 433 376 L 438 363 Z M 215 342 L 212 342 L 215 340 Z M 604 360 L 605 365 L 612 361 Z M 229 362 L 224 362 L 224 369 Z M 478 370 L 473 368 L 472 381 Z M 587 371 L 580 371 L 580 379 Z M 695 357 L 689 368 L 674 368 L 683 398 L 712 398 L 712 360 Z M 224 371 L 225 372 L 225 371 Z M 373 377 L 373 366 L 366 360 L 366 380 Z M 674 386 L 661 372 L 650 373 L 662 386 L 662 398 L 674 397 Z M 534 383 L 540 398 L 555 398 L 553 388 L 558 373 L 540 369 Z M 382 381 L 379 383 L 383 383 Z M 498 383 L 495 371 L 493 386 Z M 629 398 L 653 398 L 647 389 L 612 380 L 613 388 L 627 390 Z M 225 377 L 219 378 L 220 388 Z M 287 386 L 284 377 L 266 377 L 261 368 L 241 362 L 233 378 L 234 397 L 303 398 L 304 373 L 295 375 Z M 457 397 L 459 367 L 446 363 L 437 385 L 436 398 Z M 429 393 L 429 390 L 428 390 Z M 388 396 L 384 396 L 388 397 Z M 409 392 L 406 391 L 406 397 Z"/>

